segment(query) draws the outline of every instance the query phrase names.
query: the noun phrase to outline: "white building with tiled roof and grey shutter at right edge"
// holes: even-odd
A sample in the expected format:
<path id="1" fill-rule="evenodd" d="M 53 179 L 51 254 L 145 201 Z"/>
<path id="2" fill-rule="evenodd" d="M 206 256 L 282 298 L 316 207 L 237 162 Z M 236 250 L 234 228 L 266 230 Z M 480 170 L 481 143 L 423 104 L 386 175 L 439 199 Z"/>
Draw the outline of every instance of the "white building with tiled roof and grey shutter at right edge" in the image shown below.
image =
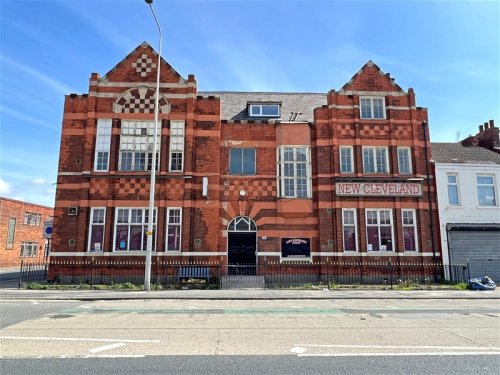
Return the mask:
<path id="1" fill-rule="evenodd" d="M 476 137 L 431 148 L 443 264 L 468 261 L 471 277 L 500 282 L 500 154 Z"/>

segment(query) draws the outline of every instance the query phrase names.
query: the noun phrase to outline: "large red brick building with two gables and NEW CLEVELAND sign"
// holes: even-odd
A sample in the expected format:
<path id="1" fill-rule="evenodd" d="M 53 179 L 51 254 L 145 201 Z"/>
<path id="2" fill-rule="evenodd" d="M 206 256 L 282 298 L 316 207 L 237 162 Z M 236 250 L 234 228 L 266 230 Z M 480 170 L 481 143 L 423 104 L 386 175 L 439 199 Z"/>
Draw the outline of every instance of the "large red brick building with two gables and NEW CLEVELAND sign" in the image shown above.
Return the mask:
<path id="1" fill-rule="evenodd" d="M 66 96 L 52 255 L 144 257 L 156 141 L 155 256 L 440 258 L 413 89 L 370 61 L 326 94 L 198 92 L 162 60 L 154 140 L 156 63 L 143 43 Z"/>

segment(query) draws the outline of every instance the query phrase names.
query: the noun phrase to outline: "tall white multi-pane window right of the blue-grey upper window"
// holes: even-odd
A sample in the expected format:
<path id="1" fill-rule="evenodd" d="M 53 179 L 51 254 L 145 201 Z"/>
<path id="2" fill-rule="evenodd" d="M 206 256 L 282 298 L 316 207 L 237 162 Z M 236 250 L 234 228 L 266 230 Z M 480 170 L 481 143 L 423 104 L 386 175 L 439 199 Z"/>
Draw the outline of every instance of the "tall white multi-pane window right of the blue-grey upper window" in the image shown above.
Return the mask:
<path id="1" fill-rule="evenodd" d="M 282 198 L 311 197 L 311 157 L 308 146 L 278 148 L 278 184 Z"/>

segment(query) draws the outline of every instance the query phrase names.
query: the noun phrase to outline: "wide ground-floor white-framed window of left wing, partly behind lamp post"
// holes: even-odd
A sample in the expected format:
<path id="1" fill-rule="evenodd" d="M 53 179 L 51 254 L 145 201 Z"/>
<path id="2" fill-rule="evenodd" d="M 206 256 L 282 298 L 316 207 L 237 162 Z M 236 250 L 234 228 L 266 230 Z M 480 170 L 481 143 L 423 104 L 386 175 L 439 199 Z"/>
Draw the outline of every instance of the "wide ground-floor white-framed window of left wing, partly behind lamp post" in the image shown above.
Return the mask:
<path id="1" fill-rule="evenodd" d="M 114 244 L 115 251 L 146 250 L 148 230 L 147 208 L 116 208 Z M 153 214 L 153 251 L 156 249 L 156 214 Z"/>

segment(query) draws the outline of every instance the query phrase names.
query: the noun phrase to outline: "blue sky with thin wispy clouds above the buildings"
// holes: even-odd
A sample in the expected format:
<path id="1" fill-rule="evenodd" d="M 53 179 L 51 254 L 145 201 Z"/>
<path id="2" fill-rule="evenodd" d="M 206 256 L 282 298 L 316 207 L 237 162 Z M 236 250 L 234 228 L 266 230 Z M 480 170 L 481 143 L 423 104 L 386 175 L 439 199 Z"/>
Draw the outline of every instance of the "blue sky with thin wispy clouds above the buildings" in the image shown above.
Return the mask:
<path id="1" fill-rule="evenodd" d="M 200 91 L 339 90 L 368 61 L 429 109 L 431 140 L 500 123 L 499 1 L 155 0 Z M 158 34 L 143 0 L 0 0 L 0 196 L 53 206 L 64 95 Z"/>

